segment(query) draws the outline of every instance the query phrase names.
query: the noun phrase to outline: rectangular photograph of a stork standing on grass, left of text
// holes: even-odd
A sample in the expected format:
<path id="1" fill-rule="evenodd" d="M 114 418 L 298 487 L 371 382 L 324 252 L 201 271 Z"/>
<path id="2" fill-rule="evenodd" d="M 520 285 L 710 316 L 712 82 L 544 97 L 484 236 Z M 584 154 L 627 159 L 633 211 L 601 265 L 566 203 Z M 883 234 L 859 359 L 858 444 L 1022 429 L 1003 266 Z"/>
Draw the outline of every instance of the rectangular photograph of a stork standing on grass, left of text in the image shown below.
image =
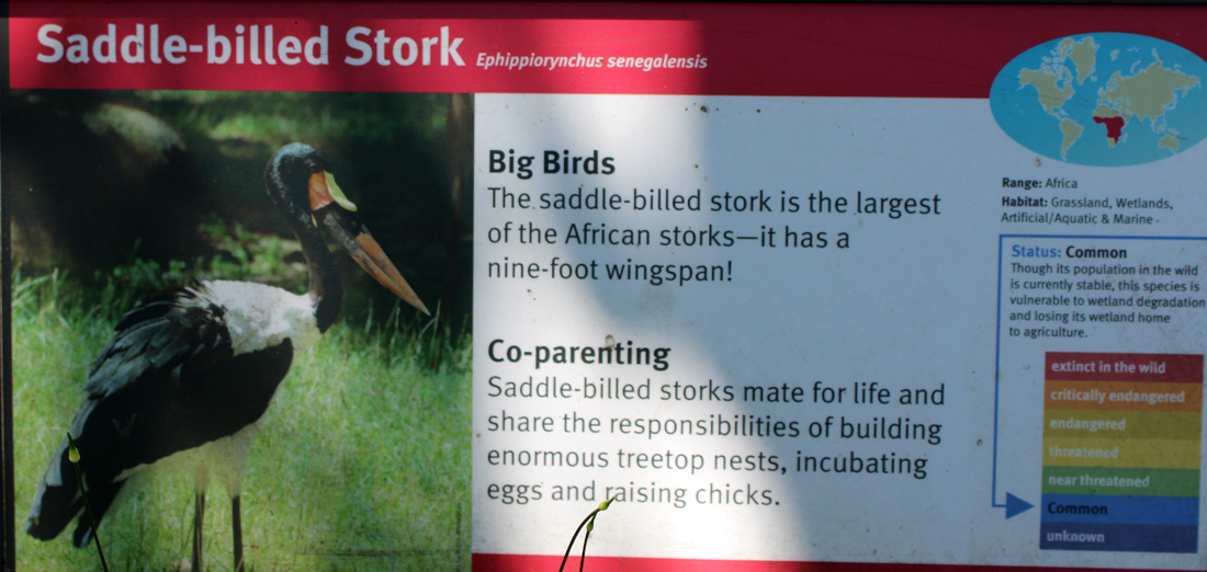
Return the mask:
<path id="1" fill-rule="evenodd" d="M 468 568 L 472 102 L 12 93 L 18 571 Z"/>

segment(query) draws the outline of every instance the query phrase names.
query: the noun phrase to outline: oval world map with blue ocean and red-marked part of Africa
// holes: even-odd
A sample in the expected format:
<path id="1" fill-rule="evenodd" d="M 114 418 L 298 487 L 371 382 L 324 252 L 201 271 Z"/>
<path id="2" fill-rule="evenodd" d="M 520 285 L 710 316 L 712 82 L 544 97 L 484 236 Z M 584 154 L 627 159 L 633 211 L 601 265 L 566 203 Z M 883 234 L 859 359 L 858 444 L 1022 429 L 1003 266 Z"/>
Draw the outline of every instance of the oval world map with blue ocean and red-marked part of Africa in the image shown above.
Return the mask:
<path id="1" fill-rule="evenodd" d="M 1077 165 L 1125 166 L 1184 153 L 1207 137 L 1207 63 L 1164 40 L 1101 33 L 1014 58 L 990 107 L 1019 145 Z"/>

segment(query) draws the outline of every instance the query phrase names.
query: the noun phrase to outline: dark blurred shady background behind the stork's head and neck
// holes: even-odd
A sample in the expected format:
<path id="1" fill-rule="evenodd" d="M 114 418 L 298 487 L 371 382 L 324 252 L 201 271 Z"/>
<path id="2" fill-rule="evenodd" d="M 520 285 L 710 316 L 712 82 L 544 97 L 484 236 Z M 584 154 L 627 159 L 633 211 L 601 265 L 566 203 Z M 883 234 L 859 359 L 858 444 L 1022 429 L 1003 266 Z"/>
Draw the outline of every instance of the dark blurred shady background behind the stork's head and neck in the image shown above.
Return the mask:
<path id="1" fill-rule="evenodd" d="M 298 141 L 331 159 L 424 302 L 468 329 L 470 98 L 17 92 L 5 114 L 13 261 L 98 291 L 123 273 L 140 275 L 132 287 L 158 273 L 167 287 L 221 277 L 302 291 L 301 249 L 263 190 L 268 158 Z M 393 296 L 337 258 L 346 319 L 391 313 Z"/>

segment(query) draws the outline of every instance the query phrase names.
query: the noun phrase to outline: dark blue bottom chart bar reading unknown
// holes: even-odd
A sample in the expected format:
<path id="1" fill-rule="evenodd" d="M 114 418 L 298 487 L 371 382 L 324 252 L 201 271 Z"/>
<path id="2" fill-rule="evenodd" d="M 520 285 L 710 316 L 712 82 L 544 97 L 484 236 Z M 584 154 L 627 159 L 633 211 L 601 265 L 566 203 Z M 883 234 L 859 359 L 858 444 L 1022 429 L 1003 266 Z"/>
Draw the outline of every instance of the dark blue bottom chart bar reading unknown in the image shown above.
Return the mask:
<path id="1" fill-rule="evenodd" d="M 1039 525 L 1039 548 L 1054 550 L 1194 553 L 1197 542 L 1196 525 L 1051 521 Z"/>

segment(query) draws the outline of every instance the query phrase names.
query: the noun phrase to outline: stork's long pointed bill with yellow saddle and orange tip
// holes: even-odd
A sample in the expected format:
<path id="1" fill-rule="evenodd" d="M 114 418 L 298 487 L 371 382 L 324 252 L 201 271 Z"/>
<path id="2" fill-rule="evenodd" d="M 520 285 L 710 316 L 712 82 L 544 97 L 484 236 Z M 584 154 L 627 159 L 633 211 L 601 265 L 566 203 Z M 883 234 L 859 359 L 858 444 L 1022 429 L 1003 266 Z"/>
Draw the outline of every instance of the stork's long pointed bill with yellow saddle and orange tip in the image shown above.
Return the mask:
<path id="1" fill-rule="evenodd" d="M 328 207 L 332 204 L 336 206 Z M 316 220 L 326 226 L 327 231 L 351 254 L 352 260 L 356 260 L 356 264 L 365 269 L 369 276 L 404 302 L 431 316 L 427 306 L 424 306 L 415 290 L 398 273 L 398 269 L 385 255 L 369 230 L 352 214 L 356 211 L 356 205 L 352 205 L 352 201 L 344 196 L 339 185 L 336 184 L 336 177 L 332 177 L 330 172 L 316 172 L 310 176 L 310 211 L 319 217 Z"/>

